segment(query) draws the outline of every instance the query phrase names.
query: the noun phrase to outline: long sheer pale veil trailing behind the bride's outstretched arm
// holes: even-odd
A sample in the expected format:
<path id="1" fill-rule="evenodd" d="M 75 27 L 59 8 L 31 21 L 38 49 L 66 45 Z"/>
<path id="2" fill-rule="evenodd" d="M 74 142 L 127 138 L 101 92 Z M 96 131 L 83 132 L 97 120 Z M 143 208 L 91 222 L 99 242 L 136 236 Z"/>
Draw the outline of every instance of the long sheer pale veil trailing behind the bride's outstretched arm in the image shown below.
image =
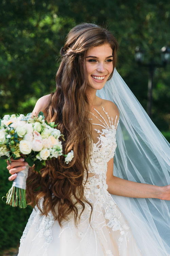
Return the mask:
<path id="1" fill-rule="evenodd" d="M 153 124 L 116 68 L 97 96 L 119 109 L 114 175 L 130 181 L 170 184 L 170 144 Z M 170 201 L 113 196 L 145 256 L 170 255 Z"/>

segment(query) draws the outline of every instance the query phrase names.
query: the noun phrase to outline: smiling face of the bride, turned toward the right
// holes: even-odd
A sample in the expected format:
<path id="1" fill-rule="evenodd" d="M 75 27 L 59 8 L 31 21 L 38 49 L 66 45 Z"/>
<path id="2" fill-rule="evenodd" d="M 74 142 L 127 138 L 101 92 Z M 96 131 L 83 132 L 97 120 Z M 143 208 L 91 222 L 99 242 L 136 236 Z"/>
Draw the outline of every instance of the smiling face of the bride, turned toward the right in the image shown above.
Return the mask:
<path id="1" fill-rule="evenodd" d="M 113 51 L 109 44 L 90 48 L 86 54 L 88 86 L 100 90 L 113 71 Z"/>

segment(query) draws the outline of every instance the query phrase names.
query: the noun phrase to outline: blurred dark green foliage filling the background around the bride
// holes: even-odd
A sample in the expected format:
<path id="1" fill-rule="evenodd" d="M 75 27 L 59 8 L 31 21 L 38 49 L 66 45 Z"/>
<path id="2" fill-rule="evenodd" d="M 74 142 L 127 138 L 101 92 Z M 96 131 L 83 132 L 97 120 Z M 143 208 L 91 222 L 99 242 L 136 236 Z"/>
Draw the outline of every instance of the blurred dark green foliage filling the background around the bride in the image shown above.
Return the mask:
<path id="1" fill-rule="evenodd" d="M 119 43 L 117 69 L 143 108 L 147 106 L 148 69 L 138 67 L 135 47 L 145 49 L 145 61 L 158 63 L 160 49 L 170 46 L 169 0 L 1 0 L 0 116 L 28 113 L 36 100 L 55 89 L 60 48 L 69 30 L 82 22 L 107 27 Z M 170 141 L 170 65 L 154 75 L 152 119 Z M 1 195 L 8 182 L 0 161 Z M 0 204 L 0 250 L 17 246 L 30 209 Z"/>

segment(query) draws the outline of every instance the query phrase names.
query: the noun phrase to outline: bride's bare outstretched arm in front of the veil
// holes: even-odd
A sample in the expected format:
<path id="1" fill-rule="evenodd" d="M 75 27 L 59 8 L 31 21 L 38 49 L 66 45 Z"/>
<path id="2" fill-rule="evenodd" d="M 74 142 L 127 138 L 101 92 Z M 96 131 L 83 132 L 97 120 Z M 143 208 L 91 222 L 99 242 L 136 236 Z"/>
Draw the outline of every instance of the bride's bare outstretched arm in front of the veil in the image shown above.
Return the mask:
<path id="1" fill-rule="evenodd" d="M 108 192 L 117 196 L 135 198 L 158 198 L 170 200 L 170 185 L 160 187 L 156 185 L 137 183 L 123 180 L 113 175 L 114 159 L 107 163 L 106 183 Z"/>

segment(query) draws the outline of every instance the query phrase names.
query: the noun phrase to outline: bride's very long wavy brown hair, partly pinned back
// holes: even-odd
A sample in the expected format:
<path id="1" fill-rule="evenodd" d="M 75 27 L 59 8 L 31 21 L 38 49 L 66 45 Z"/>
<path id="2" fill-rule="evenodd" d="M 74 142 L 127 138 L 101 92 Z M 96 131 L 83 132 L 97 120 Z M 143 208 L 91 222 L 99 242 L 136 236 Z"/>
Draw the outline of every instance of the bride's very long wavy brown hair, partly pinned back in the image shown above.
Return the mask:
<path id="1" fill-rule="evenodd" d="M 56 91 L 51 94 L 44 113 L 47 121 L 58 124 L 57 129 L 64 134 L 64 153 L 73 150 L 74 158 L 68 165 L 62 156 L 52 159 L 40 170 L 41 175 L 32 170 L 27 179 L 28 204 L 33 207 L 37 204 L 45 215 L 51 211 L 60 226 L 71 213 L 76 224 L 85 209 L 85 203 L 92 210 L 92 205 L 84 196 L 83 182 L 84 177 L 88 177 L 92 145 L 85 56 L 89 48 L 104 43 L 113 49 L 114 68 L 118 43 L 112 33 L 88 23 L 77 25 L 68 33 L 60 51 L 62 60 L 56 74 Z M 112 74 L 108 79 L 111 79 Z"/>

